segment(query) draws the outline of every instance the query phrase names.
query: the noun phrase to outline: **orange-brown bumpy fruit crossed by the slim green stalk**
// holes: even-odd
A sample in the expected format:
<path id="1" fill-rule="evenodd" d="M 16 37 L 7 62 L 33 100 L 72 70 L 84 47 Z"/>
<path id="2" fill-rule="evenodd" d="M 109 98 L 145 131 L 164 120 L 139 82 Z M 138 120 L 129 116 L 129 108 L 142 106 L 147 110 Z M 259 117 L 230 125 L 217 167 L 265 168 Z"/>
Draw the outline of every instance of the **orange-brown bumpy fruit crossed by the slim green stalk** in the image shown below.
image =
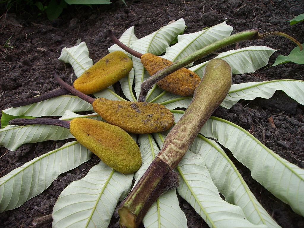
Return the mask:
<path id="1" fill-rule="evenodd" d="M 156 72 L 172 64 L 170 60 L 147 53 L 140 58 L 141 63 L 152 76 Z M 163 90 L 181 96 L 193 96 L 195 88 L 199 85 L 201 78 L 194 72 L 183 67 L 167 77 L 159 80 L 157 85 Z"/>

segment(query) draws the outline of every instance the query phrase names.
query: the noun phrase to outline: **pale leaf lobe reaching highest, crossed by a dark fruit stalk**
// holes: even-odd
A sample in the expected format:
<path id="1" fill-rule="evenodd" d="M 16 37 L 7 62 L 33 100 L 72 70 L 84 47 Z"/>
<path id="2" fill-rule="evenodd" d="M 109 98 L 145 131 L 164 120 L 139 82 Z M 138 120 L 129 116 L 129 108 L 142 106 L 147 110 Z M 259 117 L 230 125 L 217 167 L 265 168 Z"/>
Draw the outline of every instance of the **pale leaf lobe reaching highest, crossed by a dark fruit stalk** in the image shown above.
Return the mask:
<path id="1" fill-rule="evenodd" d="M 184 19 L 179 19 L 169 25 L 163 26 L 154 33 L 147 35 L 139 40 L 132 42 L 131 48 L 142 54 L 152 53 L 154 55 L 162 54 L 174 38 L 185 29 Z M 133 67 L 135 71 L 135 92 L 138 98 L 140 93 L 140 84 L 149 78 L 149 74 L 145 73 L 143 64 L 140 59 L 132 57 Z"/>

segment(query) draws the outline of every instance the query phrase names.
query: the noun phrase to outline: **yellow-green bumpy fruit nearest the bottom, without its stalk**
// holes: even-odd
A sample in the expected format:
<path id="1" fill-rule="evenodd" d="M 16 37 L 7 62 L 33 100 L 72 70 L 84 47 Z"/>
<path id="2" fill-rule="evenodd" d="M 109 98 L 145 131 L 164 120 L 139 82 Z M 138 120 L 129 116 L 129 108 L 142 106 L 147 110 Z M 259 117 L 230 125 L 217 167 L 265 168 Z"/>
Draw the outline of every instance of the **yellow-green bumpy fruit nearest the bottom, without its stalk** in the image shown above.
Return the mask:
<path id="1" fill-rule="evenodd" d="M 95 119 L 75 118 L 70 122 L 70 131 L 81 145 L 116 171 L 130 174 L 140 168 L 140 149 L 120 127 Z"/>

